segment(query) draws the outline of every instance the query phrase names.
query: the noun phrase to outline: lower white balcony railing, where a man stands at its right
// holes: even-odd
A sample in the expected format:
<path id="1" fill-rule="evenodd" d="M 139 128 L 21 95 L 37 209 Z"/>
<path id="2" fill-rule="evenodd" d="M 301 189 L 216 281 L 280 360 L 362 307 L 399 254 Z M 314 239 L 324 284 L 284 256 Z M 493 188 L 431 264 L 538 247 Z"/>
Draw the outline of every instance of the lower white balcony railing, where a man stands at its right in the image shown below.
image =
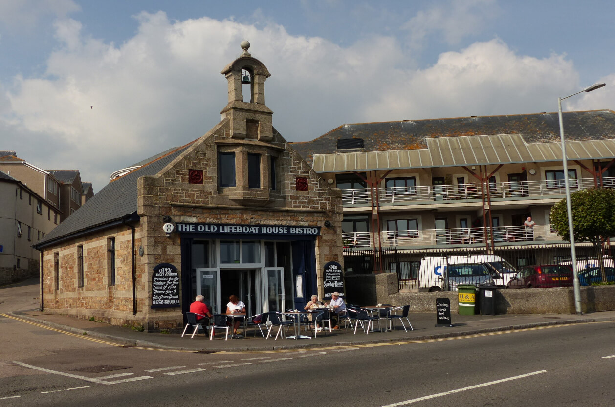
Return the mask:
<path id="1" fill-rule="evenodd" d="M 490 234 L 489 228 L 487 233 Z M 373 237 L 374 232 L 344 232 L 342 242 L 344 247 L 373 247 Z M 484 245 L 486 241 L 483 227 L 383 231 L 380 237 L 383 247 Z M 496 226 L 493 227 L 493 241 L 496 245 L 516 245 L 562 240 L 547 224 L 534 225 L 531 231 L 526 231 L 525 226 Z M 378 242 L 377 234 L 376 242 Z"/>

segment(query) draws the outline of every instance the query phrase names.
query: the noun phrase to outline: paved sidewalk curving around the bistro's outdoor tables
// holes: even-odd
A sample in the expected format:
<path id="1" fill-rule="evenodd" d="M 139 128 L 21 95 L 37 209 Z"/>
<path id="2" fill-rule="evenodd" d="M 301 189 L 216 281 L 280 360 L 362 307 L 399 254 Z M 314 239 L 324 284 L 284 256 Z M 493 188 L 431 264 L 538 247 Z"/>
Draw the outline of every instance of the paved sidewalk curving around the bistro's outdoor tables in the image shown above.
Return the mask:
<path id="1" fill-rule="evenodd" d="M 242 339 L 214 339 L 210 341 L 204 334 L 190 338 L 181 338 L 181 333 L 145 333 L 133 331 L 130 328 L 112 326 L 107 323 L 97 323 L 66 315 L 49 314 L 39 310 L 20 310 L 9 312 L 16 318 L 49 326 L 58 330 L 84 334 L 93 338 L 106 339 L 125 346 L 153 347 L 157 349 L 181 349 L 192 352 L 237 352 L 277 349 L 300 349 L 329 346 L 354 346 L 358 344 L 383 343 L 395 341 L 420 341 L 435 338 L 451 338 L 497 331 L 510 331 L 537 326 L 561 325 L 571 323 L 589 323 L 615 321 L 615 311 L 593 312 L 584 315 L 565 314 L 531 314 L 531 315 L 452 315 L 453 327 L 435 326 L 434 313 L 410 314 L 410 322 L 415 328 L 406 333 L 401 326 L 397 330 L 386 333 L 353 334 L 351 330 L 335 330 L 327 336 L 319 333 L 316 339 L 274 339 L 267 340 L 257 333 L 256 338 L 250 336 Z M 219 335 L 216 334 L 219 337 Z"/>

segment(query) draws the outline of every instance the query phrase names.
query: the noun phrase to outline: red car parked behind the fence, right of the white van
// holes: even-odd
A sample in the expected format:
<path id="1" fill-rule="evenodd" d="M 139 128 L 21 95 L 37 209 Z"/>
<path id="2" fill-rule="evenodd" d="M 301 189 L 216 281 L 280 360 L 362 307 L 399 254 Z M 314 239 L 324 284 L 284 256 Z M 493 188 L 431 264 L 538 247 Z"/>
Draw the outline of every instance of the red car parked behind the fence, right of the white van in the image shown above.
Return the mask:
<path id="1" fill-rule="evenodd" d="M 573 269 L 561 264 L 523 267 L 510 279 L 508 288 L 569 287 L 573 285 Z"/>

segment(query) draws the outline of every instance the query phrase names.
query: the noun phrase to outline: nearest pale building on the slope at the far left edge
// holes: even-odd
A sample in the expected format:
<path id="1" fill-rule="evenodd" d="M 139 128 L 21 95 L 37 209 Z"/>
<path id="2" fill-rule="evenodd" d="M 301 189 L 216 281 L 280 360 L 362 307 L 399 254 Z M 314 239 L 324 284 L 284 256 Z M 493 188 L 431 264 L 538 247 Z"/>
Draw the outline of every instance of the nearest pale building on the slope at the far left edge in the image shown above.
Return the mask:
<path id="1" fill-rule="evenodd" d="M 57 208 L 0 171 L 0 285 L 38 276 L 40 253 L 31 246 L 57 223 Z"/>

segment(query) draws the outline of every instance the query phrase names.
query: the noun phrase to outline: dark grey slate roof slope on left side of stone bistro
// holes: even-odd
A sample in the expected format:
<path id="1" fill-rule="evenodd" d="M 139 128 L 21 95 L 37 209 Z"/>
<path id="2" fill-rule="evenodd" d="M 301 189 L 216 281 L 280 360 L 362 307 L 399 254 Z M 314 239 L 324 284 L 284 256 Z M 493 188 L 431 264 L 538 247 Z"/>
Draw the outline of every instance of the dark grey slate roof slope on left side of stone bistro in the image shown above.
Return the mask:
<path id="1" fill-rule="evenodd" d="M 143 165 L 143 167 L 109 182 L 105 188 L 98 191 L 95 196 L 56 226 L 34 247 L 40 249 L 55 241 L 67 239 L 71 235 L 87 231 L 93 227 L 104 227 L 106 224 L 120 221 L 125 216 L 135 213 L 137 211 L 138 178 L 144 175 L 156 175 L 191 144 L 186 144 L 186 146 L 176 149 L 167 156 L 154 160 L 148 165 Z"/>

